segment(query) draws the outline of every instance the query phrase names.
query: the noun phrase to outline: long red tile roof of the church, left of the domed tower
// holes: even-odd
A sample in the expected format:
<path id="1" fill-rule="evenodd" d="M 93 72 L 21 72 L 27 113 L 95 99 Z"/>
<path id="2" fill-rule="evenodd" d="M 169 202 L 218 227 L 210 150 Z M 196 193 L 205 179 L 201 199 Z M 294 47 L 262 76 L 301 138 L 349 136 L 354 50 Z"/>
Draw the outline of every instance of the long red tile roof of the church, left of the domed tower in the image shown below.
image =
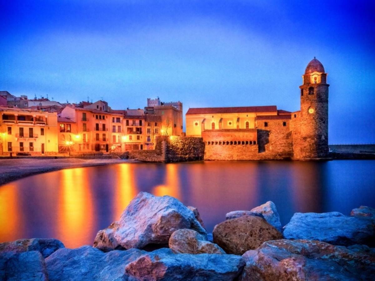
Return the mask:
<path id="1" fill-rule="evenodd" d="M 186 115 L 190 114 L 225 114 L 225 113 L 246 113 L 246 112 L 273 112 L 277 111 L 276 105 L 269 106 L 239 106 L 239 107 L 206 107 L 189 108 Z"/>

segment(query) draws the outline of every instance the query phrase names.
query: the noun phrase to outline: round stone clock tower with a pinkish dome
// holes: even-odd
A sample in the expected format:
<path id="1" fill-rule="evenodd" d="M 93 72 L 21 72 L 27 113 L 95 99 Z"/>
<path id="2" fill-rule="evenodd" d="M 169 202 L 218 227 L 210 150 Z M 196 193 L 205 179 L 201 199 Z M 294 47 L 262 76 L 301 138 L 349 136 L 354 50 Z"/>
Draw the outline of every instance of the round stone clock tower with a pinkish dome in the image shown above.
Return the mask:
<path id="1" fill-rule="evenodd" d="M 328 154 L 328 87 L 327 73 L 315 57 L 302 75 L 299 138 L 294 157 L 324 158 Z"/>

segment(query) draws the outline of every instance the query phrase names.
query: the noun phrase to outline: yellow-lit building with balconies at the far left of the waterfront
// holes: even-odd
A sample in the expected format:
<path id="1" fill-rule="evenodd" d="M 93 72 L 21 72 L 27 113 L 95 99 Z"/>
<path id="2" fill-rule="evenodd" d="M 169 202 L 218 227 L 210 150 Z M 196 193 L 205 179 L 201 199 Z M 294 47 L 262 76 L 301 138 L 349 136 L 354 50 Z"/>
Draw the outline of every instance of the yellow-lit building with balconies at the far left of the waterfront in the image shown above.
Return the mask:
<path id="1" fill-rule="evenodd" d="M 0 154 L 58 153 L 57 114 L 0 107 Z"/>

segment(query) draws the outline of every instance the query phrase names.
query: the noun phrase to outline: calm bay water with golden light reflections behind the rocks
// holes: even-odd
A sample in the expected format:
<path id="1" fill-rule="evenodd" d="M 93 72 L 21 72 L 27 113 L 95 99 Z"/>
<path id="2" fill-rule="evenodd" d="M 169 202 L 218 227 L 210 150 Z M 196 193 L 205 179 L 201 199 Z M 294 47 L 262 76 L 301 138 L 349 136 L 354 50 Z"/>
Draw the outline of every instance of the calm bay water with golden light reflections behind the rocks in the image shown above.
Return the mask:
<path id="1" fill-rule="evenodd" d="M 60 170 L 0 187 L 0 242 L 57 238 L 91 245 L 140 191 L 198 208 L 209 231 L 234 210 L 272 200 L 285 225 L 294 212 L 375 207 L 375 161 L 124 163 Z"/>

